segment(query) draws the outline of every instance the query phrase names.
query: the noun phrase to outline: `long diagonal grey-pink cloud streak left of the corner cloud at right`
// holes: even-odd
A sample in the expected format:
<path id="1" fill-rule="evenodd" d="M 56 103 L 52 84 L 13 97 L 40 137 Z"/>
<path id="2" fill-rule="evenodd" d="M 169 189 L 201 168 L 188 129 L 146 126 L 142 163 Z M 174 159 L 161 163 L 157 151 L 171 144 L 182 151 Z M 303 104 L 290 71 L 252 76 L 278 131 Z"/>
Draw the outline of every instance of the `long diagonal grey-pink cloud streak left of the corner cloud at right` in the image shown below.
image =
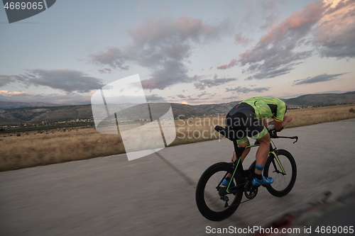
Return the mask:
<path id="1" fill-rule="evenodd" d="M 310 33 L 324 12 L 324 3 L 317 1 L 308 4 L 305 9 L 295 11 L 277 26 L 263 35 L 255 47 L 239 54 L 239 64 L 248 66 L 245 72 L 275 74 L 280 67 L 291 62 L 305 60 L 312 50 L 295 50 L 297 43 Z"/>

